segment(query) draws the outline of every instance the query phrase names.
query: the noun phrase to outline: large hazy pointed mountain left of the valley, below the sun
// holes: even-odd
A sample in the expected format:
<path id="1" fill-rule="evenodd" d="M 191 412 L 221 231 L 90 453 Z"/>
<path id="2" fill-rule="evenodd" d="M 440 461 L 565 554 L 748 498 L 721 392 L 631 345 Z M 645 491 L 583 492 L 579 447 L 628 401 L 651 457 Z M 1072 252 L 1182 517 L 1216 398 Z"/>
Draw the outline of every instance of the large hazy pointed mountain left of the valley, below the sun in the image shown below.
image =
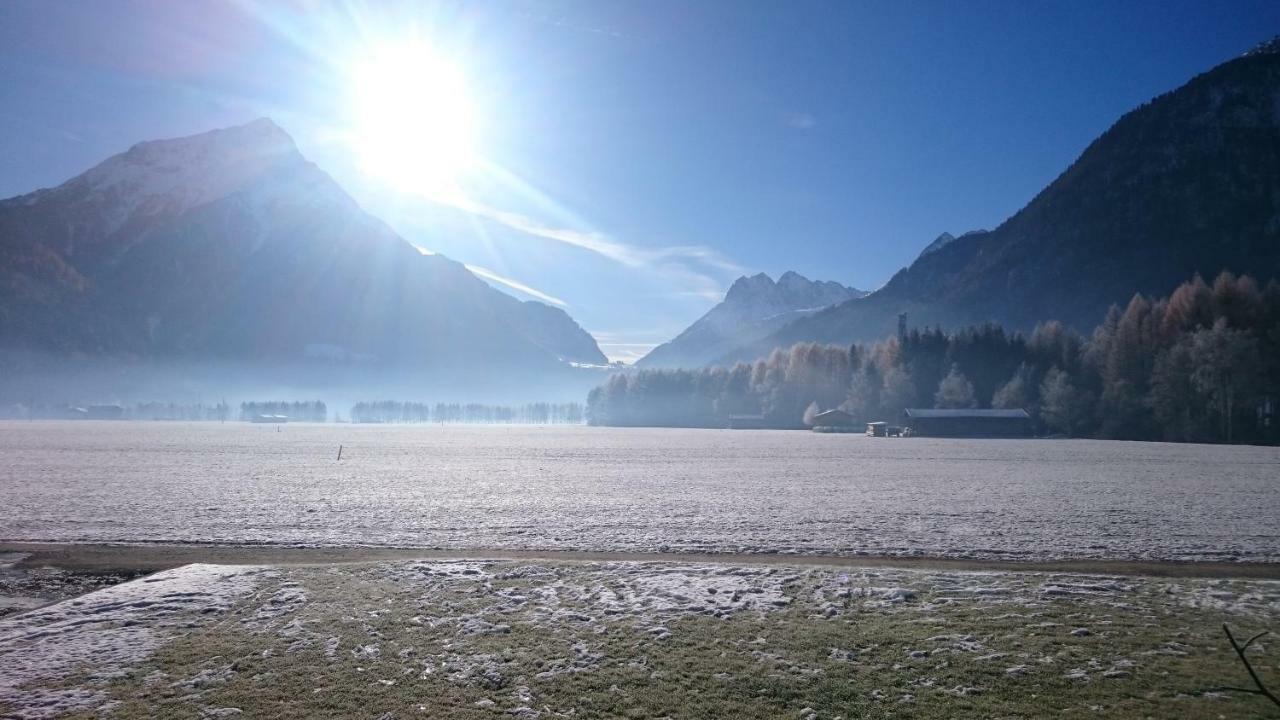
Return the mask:
<path id="1" fill-rule="evenodd" d="M 0 201 L 0 347 L 476 379 L 607 364 L 562 310 L 361 210 L 268 119 L 142 142 Z"/>

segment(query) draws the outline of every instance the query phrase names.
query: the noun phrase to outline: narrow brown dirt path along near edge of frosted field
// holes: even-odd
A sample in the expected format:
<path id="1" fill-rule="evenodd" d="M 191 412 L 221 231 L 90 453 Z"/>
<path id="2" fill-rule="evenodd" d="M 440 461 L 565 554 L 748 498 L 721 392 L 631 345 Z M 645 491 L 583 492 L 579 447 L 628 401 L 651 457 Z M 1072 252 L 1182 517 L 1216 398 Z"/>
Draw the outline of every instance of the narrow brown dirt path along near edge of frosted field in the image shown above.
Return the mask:
<path id="1" fill-rule="evenodd" d="M 736 555 L 659 552 L 539 552 L 511 550 L 424 550 L 393 547 L 278 547 L 209 544 L 73 544 L 0 542 L 0 552 L 22 552 L 18 566 L 54 566 L 68 571 L 156 571 L 191 562 L 224 565 L 324 565 L 415 559 L 494 559 L 667 562 L 732 562 L 735 565 L 820 565 L 845 568 L 905 568 L 920 570 L 1012 570 L 1044 573 L 1103 573 L 1167 578 L 1280 579 L 1280 564 L 1265 562 L 1139 562 L 1062 560 L 1020 562 L 945 557 L 883 557 L 827 555 Z"/>

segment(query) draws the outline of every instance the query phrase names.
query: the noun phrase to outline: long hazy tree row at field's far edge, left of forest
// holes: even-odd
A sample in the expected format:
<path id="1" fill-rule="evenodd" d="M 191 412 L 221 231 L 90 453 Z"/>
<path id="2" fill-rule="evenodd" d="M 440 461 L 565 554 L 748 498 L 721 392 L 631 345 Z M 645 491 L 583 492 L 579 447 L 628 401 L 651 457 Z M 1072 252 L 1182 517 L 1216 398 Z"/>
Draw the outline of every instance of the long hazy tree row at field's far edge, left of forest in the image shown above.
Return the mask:
<path id="1" fill-rule="evenodd" d="M 351 407 L 352 423 L 468 423 L 580 425 L 585 410 L 580 402 L 529 402 L 525 405 L 483 405 L 477 402 L 404 402 L 381 400 L 357 402 Z"/>

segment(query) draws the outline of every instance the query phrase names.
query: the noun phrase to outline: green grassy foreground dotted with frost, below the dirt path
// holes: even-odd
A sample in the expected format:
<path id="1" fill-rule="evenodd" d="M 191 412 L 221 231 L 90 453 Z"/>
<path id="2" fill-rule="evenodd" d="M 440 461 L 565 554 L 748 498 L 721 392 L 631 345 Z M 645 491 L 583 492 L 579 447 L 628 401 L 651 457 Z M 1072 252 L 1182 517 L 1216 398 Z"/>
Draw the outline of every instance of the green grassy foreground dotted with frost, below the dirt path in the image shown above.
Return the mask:
<path id="1" fill-rule="evenodd" d="M 1268 580 L 430 561 L 255 583 L 54 684 L 124 719 L 1276 715 L 1206 692 L 1248 685 L 1222 623 L 1280 630 Z M 1280 638 L 1251 656 L 1280 685 Z"/>

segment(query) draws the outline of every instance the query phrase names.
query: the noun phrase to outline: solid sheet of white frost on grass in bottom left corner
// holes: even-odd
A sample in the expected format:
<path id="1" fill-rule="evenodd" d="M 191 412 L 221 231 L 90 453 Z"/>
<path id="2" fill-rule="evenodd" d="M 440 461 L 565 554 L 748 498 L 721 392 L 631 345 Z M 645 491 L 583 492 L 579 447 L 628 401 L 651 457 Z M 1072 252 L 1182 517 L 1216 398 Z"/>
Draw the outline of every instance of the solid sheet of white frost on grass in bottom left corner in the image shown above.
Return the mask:
<path id="1" fill-rule="evenodd" d="M 0 700 L 22 717 L 100 707 L 110 680 L 169 637 L 216 621 L 261 573 L 187 565 L 0 620 Z"/>

